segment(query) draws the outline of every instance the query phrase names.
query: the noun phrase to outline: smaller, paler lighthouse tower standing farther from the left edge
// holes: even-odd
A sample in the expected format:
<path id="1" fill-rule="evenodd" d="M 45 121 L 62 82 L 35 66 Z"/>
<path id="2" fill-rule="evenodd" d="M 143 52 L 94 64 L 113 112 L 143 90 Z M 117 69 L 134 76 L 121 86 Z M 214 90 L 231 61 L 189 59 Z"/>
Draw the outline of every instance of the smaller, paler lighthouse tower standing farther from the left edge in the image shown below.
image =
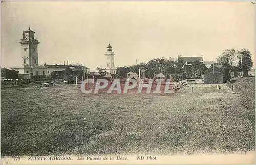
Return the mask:
<path id="1" fill-rule="evenodd" d="M 114 56 L 115 53 L 112 52 L 112 46 L 109 44 L 106 46 L 106 52 L 104 53 L 106 57 L 106 72 L 109 72 L 110 74 L 116 74 L 116 69 L 114 65 Z"/>

